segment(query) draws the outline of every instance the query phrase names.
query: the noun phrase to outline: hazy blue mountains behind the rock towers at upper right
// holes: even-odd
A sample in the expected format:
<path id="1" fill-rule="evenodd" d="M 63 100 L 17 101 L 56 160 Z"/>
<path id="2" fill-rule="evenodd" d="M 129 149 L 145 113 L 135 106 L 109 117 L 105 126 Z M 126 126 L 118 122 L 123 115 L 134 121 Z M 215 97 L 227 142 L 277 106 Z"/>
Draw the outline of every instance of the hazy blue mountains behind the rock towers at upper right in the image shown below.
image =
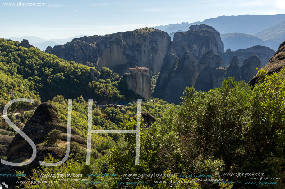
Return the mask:
<path id="1" fill-rule="evenodd" d="M 219 16 L 202 22 L 182 22 L 151 28 L 167 32 L 173 40 L 175 32 L 187 31 L 191 25 L 195 24 L 207 24 L 214 27 L 220 32 L 225 49 L 237 50 L 255 45 L 264 45 L 276 51 L 285 38 L 285 14 Z M 240 45 L 237 43 L 240 43 Z"/>

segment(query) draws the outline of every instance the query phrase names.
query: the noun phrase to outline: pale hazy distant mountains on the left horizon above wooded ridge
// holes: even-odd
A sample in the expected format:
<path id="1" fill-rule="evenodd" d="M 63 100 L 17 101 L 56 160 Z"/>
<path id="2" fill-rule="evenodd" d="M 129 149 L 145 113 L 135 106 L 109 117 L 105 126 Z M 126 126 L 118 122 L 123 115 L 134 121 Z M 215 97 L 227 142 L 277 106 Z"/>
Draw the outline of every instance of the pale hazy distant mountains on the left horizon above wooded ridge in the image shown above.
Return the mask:
<path id="1" fill-rule="evenodd" d="M 63 45 L 67 42 L 72 41 L 74 38 L 80 38 L 86 35 L 79 35 L 74 37 L 69 37 L 67 39 L 42 39 L 40 37 L 36 36 L 23 36 L 23 37 L 9 37 L 5 39 L 11 39 L 13 41 L 19 41 L 21 42 L 23 39 L 26 39 L 29 41 L 29 43 L 35 47 L 38 47 L 41 50 L 46 50 L 48 46 L 56 46 L 56 45 Z"/>

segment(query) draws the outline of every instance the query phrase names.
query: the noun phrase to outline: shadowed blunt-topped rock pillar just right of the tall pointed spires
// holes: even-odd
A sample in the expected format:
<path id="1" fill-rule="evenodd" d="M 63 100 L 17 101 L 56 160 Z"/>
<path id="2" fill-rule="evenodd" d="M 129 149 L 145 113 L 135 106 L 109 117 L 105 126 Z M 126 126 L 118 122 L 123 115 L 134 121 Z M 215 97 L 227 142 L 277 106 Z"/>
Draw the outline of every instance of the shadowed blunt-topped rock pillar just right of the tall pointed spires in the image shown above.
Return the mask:
<path id="1" fill-rule="evenodd" d="M 205 52 L 198 63 L 199 76 L 194 88 L 197 91 L 209 91 L 213 88 L 212 77 L 215 70 L 222 65 L 222 58 L 212 50 Z"/>

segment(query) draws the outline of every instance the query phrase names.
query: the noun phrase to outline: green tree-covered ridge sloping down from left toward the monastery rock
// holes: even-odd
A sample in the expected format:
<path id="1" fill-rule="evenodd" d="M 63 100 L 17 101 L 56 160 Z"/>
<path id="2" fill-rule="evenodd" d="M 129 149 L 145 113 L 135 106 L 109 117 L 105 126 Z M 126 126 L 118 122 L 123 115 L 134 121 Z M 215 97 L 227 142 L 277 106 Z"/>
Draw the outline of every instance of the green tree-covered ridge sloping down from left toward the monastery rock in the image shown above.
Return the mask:
<path id="1" fill-rule="evenodd" d="M 27 49 L 17 45 L 18 42 L 0 39 L 0 109 L 15 98 L 31 98 L 36 100 L 37 105 L 56 95 L 67 99 L 82 95 L 97 102 L 125 100 L 118 90 L 118 75 L 108 68 L 102 68 L 99 72 L 37 48 Z M 123 84 L 120 86 L 129 91 L 122 87 Z M 11 107 L 19 108 L 20 104 L 16 106 Z"/>

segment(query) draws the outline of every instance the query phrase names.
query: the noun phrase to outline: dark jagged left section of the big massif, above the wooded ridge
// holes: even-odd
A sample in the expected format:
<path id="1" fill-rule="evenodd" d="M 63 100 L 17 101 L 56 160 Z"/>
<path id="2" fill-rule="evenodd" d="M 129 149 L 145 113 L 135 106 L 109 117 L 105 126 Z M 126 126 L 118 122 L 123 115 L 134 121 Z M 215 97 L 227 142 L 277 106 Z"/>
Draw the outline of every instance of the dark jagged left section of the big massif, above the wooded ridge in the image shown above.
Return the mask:
<path id="1" fill-rule="evenodd" d="M 97 35 L 75 38 L 64 45 L 57 45 L 53 48 L 48 46 L 45 51 L 67 61 L 96 66 L 100 61 L 99 40 L 101 38 L 102 36 Z"/>

